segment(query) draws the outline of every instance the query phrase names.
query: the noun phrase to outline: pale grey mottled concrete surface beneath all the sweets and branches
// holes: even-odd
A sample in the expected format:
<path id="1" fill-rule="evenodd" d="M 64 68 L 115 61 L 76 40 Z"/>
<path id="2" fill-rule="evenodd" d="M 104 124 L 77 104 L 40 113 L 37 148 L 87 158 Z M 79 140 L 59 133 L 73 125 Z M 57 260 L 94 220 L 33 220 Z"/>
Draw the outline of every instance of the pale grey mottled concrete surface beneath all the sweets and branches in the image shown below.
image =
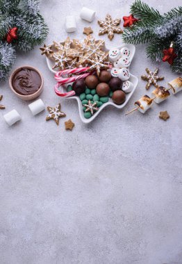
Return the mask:
<path id="1" fill-rule="evenodd" d="M 179 6 L 181 0 L 147 0 L 161 12 Z M 82 6 L 97 10 L 102 19 L 129 14 L 132 1 L 42 1 L 41 10 L 50 32 L 47 43 L 65 40 L 65 16 L 78 16 Z M 97 37 L 97 19 L 89 24 Z M 83 38 L 87 22 L 78 19 Z M 121 44 L 115 35 L 108 47 Z M 40 50 L 19 54 L 15 67 L 38 67 L 44 75 L 41 99 L 55 106 L 53 75 Z M 160 67 L 161 85 L 177 75 L 167 63 L 151 63 L 144 46 L 137 47 L 131 72 L 138 88 L 124 110 L 108 107 L 89 125 L 81 122 L 76 101 L 61 100 L 67 114 L 45 122 L 47 111 L 33 117 L 27 103 L 1 85 L 6 110 L 1 110 L 0 263 L 1 264 L 181 264 L 182 92 L 145 115 L 124 116 L 146 92 L 140 76 L 144 69 Z M 8 127 L 2 115 L 13 108 L 22 122 Z M 158 118 L 167 110 L 167 122 Z M 74 130 L 65 131 L 71 118 Z"/>

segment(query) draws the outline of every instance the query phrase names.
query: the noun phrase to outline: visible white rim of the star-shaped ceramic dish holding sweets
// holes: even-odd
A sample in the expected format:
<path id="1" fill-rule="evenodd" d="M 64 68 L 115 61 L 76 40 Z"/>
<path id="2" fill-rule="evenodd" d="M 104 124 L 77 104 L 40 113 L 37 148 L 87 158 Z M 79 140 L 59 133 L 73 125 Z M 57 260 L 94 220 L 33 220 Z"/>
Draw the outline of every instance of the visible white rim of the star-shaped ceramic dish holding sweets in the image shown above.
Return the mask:
<path id="1" fill-rule="evenodd" d="M 64 43 L 64 42 L 63 42 Z M 135 46 L 133 46 L 132 44 L 122 44 L 121 46 L 117 47 L 118 49 L 122 49 L 123 47 L 127 47 L 128 49 L 131 50 L 131 61 L 133 60 L 133 56 L 135 55 Z M 108 49 L 105 50 L 108 51 Z M 49 58 L 46 57 L 47 60 L 47 66 L 49 67 L 50 71 L 53 72 L 53 74 L 56 74 L 56 71 L 52 69 L 53 67 L 53 62 L 51 60 L 49 60 Z M 118 109 L 122 109 L 124 108 L 124 106 L 126 106 L 126 104 L 128 104 L 129 99 L 131 99 L 133 92 L 135 92 L 135 89 L 138 85 L 138 78 L 136 76 L 134 76 L 133 74 L 131 74 L 129 81 L 131 81 L 131 83 L 133 83 L 134 85 L 134 89 L 132 92 L 129 92 L 129 94 L 126 94 L 126 101 L 124 102 L 124 104 L 114 104 L 112 99 L 109 99 L 109 101 L 105 104 L 103 104 L 101 107 L 99 107 L 99 110 L 94 113 L 94 115 L 92 115 L 92 117 L 90 118 L 85 118 L 84 117 L 84 112 L 83 112 L 83 106 L 81 104 L 81 99 L 78 96 L 74 96 L 74 97 L 67 97 L 67 99 L 76 99 L 76 101 L 78 102 L 78 110 L 79 110 L 79 115 L 81 117 L 81 121 L 85 124 L 88 124 L 90 122 L 92 122 L 97 115 L 99 115 L 99 113 L 101 112 L 101 110 L 103 110 L 106 106 L 114 106 L 115 108 Z M 70 84 L 70 83 L 69 83 Z M 63 87 L 63 90 L 66 90 L 67 85 L 65 85 L 65 87 Z"/>

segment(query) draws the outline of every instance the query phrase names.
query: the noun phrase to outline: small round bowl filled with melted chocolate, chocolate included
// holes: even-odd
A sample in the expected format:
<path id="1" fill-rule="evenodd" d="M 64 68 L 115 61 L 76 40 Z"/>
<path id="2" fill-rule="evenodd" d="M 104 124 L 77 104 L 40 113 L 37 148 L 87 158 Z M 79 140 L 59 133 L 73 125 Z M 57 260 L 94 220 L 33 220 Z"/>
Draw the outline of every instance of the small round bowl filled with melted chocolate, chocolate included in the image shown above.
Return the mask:
<path id="1" fill-rule="evenodd" d="M 17 97 L 23 100 L 33 100 L 43 90 L 42 74 L 35 67 L 22 66 L 10 76 L 10 88 Z"/>

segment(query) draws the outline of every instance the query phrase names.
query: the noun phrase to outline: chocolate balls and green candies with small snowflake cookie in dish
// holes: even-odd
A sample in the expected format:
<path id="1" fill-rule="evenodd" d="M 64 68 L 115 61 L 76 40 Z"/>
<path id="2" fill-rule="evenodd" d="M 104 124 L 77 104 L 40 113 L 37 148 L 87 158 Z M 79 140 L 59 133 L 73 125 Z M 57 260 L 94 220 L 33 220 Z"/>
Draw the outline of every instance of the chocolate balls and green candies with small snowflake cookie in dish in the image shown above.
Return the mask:
<path id="1" fill-rule="evenodd" d="M 67 92 L 74 90 L 81 99 L 85 118 L 90 118 L 109 98 L 115 104 L 123 104 L 126 94 L 122 90 L 123 82 L 118 77 L 112 77 L 110 72 L 102 70 L 98 76 L 90 75 L 85 80 L 75 81 L 67 86 Z"/>

